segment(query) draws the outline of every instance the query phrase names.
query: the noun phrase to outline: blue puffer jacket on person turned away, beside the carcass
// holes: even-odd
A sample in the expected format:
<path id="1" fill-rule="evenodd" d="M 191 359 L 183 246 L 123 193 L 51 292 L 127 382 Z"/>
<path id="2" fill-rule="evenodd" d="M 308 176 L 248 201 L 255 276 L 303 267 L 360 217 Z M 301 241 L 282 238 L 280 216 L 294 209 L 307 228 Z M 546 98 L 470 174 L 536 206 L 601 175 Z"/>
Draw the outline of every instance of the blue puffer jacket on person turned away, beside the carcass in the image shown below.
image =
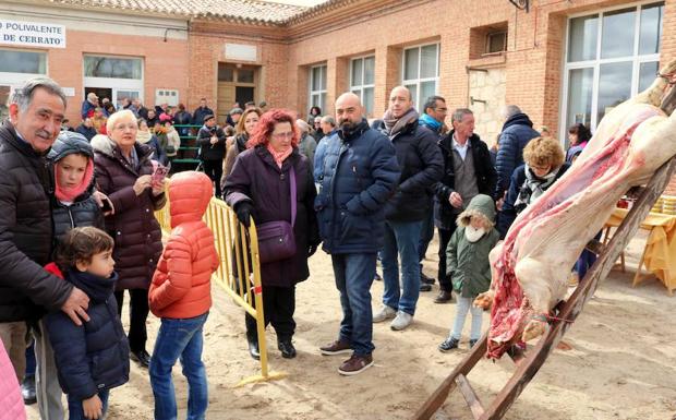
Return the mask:
<path id="1" fill-rule="evenodd" d="M 495 170 L 497 171 L 495 200 L 502 199 L 509 188 L 509 178 L 515 168 L 523 165 L 523 147 L 531 139 L 539 136 L 540 133 L 533 130 L 533 123 L 526 113 L 514 115 L 505 121 L 495 159 Z"/>

